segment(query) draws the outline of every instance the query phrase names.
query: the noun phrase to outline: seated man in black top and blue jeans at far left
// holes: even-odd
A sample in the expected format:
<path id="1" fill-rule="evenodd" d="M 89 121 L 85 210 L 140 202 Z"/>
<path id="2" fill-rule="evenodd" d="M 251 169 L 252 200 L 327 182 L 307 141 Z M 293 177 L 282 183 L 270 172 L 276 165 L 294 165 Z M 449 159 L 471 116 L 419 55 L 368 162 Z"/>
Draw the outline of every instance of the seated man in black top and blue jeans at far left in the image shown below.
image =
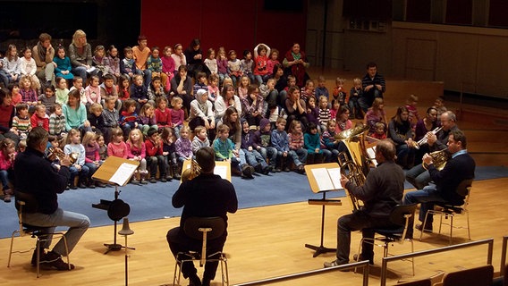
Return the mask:
<path id="1" fill-rule="evenodd" d="M 36 127 L 30 131 L 27 139 L 27 149 L 18 154 L 14 161 L 14 188 L 16 194 L 19 192 L 34 198 L 35 206 L 23 210 L 23 223 L 34 226 L 46 227 L 47 233 L 55 232 L 57 226 L 69 226 L 64 236 L 67 240 L 69 252 L 78 244 L 81 236 L 89 229 L 90 220 L 88 216 L 64 211 L 58 207 L 57 194 L 63 193 L 71 173 L 69 172 L 69 157 L 60 160 L 60 169 L 56 169 L 51 162 L 44 158 L 44 151 L 47 146 L 47 131 L 42 127 Z M 19 196 L 16 195 L 16 199 Z M 52 251 L 46 254 L 45 249 L 49 248 L 51 240 L 45 241 L 40 251 L 40 262 L 50 265 L 57 270 L 72 270 L 74 265 L 68 265 L 62 260 L 67 256 L 63 238 L 59 240 Z M 37 249 L 36 249 L 37 251 Z M 37 252 L 31 260 L 36 264 Z"/>

